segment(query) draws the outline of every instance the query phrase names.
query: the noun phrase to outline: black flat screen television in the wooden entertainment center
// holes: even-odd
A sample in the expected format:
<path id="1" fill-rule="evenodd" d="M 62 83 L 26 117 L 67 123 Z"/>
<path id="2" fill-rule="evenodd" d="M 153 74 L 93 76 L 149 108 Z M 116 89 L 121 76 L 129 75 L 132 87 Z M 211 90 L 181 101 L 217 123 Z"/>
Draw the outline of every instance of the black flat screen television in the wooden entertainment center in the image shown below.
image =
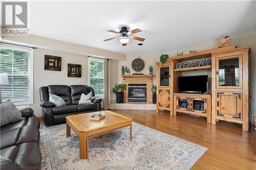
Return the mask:
<path id="1" fill-rule="evenodd" d="M 180 92 L 207 92 L 208 76 L 184 76 L 178 78 Z"/>

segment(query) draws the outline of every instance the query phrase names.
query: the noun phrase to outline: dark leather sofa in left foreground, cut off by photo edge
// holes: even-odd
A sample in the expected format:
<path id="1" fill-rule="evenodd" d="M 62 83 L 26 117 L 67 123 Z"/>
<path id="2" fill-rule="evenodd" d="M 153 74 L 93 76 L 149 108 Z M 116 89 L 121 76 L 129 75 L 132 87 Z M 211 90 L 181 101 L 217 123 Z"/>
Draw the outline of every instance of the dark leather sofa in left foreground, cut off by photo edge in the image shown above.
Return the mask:
<path id="1" fill-rule="evenodd" d="M 0 129 L 1 166 L 5 170 L 41 169 L 38 118 L 30 114 L 32 109 L 21 110 L 23 119 Z"/>

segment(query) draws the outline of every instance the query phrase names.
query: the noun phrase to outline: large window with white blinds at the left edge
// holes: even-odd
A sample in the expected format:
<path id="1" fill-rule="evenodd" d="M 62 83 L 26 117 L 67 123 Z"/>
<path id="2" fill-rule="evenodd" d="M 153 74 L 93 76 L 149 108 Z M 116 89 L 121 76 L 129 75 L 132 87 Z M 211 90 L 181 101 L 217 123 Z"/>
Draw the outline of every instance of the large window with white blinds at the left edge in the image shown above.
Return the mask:
<path id="1" fill-rule="evenodd" d="M 0 72 L 7 74 L 9 81 L 1 85 L 3 101 L 33 104 L 33 49 L 1 44 Z"/>

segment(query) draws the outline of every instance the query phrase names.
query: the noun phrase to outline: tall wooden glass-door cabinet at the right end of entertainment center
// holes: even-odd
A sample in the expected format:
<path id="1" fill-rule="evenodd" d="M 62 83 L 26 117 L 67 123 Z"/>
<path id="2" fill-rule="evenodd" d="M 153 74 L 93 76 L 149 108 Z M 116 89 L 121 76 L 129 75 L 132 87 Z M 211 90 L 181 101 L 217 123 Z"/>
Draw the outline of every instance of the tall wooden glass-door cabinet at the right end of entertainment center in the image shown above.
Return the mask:
<path id="1" fill-rule="evenodd" d="M 212 55 L 212 118 L 249 128 L 250 48 Z"/>

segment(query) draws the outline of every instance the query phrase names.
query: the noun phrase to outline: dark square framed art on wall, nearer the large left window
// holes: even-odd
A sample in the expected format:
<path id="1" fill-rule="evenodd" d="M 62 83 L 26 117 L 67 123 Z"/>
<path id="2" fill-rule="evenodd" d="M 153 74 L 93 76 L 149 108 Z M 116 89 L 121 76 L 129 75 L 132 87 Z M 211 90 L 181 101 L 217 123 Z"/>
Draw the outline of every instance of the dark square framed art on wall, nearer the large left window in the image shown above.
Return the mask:
<path id="1" fill-rule="evenodd" d="M 61 57 L 45 55 L 45 70 L 61 71 Z"/>

